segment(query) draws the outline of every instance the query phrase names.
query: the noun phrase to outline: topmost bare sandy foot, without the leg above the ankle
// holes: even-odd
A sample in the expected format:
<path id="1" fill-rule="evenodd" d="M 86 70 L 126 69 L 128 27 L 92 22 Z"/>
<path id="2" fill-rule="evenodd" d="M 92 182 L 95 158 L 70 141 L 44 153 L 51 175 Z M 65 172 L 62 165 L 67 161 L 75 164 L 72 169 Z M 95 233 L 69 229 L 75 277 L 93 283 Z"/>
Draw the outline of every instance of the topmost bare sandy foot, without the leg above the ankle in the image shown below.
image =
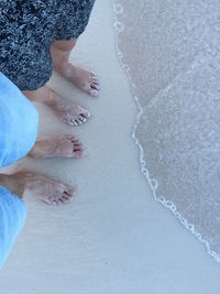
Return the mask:
<path id="1" fill-rule="evenodd" d="M 88 72 L 70 63 L 63 65 L 57 70 L 77 88 L 86 91 L 92 97 L 98 96 L 100 85 L 95 73 Z"/>

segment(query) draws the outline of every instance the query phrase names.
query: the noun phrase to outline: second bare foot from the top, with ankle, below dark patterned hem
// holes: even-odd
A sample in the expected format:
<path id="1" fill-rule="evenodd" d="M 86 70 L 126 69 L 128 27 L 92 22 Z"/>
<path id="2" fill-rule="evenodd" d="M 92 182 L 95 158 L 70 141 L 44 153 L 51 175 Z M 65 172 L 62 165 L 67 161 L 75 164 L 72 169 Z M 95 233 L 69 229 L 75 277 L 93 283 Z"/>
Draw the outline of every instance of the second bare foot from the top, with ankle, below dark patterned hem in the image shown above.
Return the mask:
<path id="1" fill-rule="evenodd" d="M 34 91 L 23 91 L 32 101 L 47 105 L 54 113 L 72 127 L 82 124 L 90 117 L 90 111 L 61 97 L 55 90 L 44 86 Z"/>

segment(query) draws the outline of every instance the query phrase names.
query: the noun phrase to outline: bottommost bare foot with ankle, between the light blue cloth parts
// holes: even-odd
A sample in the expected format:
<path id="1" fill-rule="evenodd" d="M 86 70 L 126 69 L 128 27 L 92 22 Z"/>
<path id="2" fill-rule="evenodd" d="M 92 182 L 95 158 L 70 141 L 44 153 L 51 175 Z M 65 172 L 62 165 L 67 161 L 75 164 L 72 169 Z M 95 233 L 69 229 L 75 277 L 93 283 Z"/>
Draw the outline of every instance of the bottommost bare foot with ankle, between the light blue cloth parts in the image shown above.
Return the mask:
<path id="1" fill-rule="evenodd" d="M 21 198 L 25 189 L 29 189 L 34 197 L 53 205 L 67 204 L 72 202 L 76 195 L 75 187 L 30 172 L 1 175 L 1 184 Z"/>

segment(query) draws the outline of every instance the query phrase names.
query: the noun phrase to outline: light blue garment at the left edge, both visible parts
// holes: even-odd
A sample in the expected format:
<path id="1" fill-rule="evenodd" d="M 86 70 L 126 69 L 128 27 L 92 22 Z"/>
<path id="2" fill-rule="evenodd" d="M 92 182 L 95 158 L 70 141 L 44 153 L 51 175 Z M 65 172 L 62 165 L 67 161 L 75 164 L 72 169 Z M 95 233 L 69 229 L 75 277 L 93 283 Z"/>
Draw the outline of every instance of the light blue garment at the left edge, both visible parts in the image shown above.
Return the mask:
<path id="1" fill-rule="evenodd" d="M 38 116 L 20 89 L 0 73 L 0 167 L 24 157 L 36 141 Z M 24 203 L 0 186 L 0 268 L 26 217 Z"/>

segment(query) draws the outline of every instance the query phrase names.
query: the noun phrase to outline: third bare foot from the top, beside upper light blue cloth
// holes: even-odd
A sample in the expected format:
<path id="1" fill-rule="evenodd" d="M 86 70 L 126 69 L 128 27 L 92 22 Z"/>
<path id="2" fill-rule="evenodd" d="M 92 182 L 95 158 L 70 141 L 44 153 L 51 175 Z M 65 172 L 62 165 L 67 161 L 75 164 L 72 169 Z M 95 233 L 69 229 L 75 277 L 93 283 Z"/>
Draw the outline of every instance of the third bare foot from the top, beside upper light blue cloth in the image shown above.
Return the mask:
<path id="1" fill-rule="evenodd" d="M 84 155 L 82 143 L 72 134 L 54 134 L 40 138 L 29 156 L 34 159 L 75 157 Z"/>

